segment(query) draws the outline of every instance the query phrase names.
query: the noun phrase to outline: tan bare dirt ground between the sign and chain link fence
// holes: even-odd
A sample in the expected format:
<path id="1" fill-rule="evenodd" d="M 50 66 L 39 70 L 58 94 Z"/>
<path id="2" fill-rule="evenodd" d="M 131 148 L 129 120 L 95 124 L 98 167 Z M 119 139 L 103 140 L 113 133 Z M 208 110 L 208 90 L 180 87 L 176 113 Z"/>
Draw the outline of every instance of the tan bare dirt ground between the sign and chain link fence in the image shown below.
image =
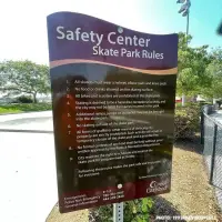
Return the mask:
<path id="1" fill-rule="evenodd" d="M 188 148 L 189 147 L 189 148 Z M 186 149 L 183 149 L 186 148 Z M 155 215 L 174 215 L 172 205 L 182 216 L 212 216 L 222 221 L 220 210 L 215 203 L 213 188 L 209 184 L 208 174 L 203 164 L 203 157 L 195 152 L 196 145 L 192 143 L 180 144 L 173 151 L 172 189 L 168 194 L 162 194 L 158 199 L 165 208 L 155 208 Z M 172 205 L 164 204 L 168 201 Z M 157 205 L 157 204 L 155 204 Z M 170 212 L 169 212 L 169 209 Z M 174 220 L 175 221 L 175 220 Z M 180 221 L 180 220 L 179 220 Z M 206 221 L 206 220 L 195 220 Z"/>

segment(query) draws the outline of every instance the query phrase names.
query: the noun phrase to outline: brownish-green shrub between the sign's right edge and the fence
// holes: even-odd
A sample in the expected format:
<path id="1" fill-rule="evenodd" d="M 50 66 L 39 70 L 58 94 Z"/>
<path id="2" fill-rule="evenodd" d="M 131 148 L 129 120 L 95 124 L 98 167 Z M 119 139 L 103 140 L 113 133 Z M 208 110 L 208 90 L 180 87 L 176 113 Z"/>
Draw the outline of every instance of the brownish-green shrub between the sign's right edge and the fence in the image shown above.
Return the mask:
<path id="1" fill-rule="evenodd" d="M 190 104 L 189 107 L 178 107 L 174 119 L 174 138 L 193 139 L 200 130 L 200 104 Z"/>

